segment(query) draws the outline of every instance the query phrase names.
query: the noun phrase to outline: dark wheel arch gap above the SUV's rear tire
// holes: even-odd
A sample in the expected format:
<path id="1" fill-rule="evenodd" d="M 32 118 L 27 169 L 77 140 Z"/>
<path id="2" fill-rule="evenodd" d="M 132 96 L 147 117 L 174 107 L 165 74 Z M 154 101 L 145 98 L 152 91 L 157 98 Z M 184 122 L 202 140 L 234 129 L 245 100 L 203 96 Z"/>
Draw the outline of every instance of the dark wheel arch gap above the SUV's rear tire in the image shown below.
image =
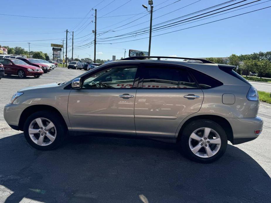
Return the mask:
<path id="1" fill-rule="evenodd" d="M 207 119 L 216 122 L 217 124 L 221 125 L 221 127 L 225 130 L 225 133 L 227 135 L 227 139 L 232 143 L 233 142 L 233 131 L 231 128 L 231 125 L 229 121 L 226 120 L 226 118 L 223 118 L 221 116 L 216 115 L 199 115 L 199 116 L 193 116 L 189 118 L 185 123 L 183 123 L 182 127 L 179 130 L 177 141 L 180 141 L 180 138 L 182 136 L 183 130 L 188 123 L 192 121 L 196 121 L 199 119 Z"/>

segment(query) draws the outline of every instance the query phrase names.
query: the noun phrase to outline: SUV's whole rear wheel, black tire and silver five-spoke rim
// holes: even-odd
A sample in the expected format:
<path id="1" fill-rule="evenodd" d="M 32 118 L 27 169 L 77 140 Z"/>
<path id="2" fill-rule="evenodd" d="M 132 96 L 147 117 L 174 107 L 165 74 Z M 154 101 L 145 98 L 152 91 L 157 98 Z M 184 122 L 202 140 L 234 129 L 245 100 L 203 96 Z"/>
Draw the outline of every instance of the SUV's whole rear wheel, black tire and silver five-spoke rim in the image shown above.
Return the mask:
<path id="1" fill-rule="evenodd" d="M 200 163 L 218 160 L 226 151 L 227 135 L 211 120 L 192 121 L 181 135 L 181 147 L 188 159 Z"/>

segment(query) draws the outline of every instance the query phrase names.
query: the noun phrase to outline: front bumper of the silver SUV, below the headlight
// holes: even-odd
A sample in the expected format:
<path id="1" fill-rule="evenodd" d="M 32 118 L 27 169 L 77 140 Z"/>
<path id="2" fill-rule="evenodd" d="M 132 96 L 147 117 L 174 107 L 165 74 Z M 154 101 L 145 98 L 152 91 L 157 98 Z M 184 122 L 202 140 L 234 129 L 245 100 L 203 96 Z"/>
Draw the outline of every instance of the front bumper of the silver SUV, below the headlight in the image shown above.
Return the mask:
<path id="1" fill-rule="evenodd" d="M 14 130 L 18 130 L 21 114 L 27 107 L 28 106 L 18 104 L 7 104 L 4 107 L 4 118 L 8 125 Z"/>

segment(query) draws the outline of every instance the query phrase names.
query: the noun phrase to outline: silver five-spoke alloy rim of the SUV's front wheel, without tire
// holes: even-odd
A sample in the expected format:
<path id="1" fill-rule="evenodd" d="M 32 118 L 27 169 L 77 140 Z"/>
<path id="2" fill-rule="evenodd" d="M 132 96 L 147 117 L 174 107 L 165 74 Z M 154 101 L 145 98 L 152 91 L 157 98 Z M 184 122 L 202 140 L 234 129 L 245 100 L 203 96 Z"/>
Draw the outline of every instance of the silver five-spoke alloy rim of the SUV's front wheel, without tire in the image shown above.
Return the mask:
<path id="1" fill-rule="evenodd" d="M 40 146 L 47 146 L 54 142 L 57 130 L 54 123 L 47 118 L 36 118 L 29 127 L 28 133 L 31 140 Z"/>

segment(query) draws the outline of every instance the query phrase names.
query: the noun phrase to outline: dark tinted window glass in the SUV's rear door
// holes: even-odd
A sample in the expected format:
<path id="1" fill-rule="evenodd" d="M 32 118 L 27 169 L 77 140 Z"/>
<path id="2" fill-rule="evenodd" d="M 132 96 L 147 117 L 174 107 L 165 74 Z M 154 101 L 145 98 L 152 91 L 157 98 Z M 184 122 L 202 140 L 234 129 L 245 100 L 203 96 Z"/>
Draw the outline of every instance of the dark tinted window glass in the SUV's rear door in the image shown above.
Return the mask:
<path id="1" fill-rule="evenodd" d="M 142 88 L 198 88 L 187 70 L 170 65 L 146 65 L 142 79 Z"/>

